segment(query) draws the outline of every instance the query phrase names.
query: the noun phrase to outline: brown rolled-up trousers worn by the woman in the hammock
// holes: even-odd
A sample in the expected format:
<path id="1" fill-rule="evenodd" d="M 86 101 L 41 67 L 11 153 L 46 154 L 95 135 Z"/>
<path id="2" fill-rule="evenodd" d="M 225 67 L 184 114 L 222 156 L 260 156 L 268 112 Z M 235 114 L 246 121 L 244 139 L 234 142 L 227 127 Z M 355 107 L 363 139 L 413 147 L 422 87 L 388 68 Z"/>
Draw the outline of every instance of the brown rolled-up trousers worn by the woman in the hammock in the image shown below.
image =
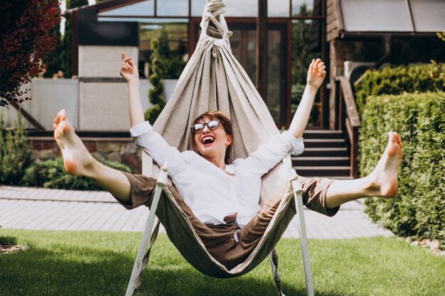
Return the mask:
<path id="1" fill-rule="evenodd" d="M 119 199 L 118 201 L 127 209 L 134 209 L 142 204 L 150 206 L 151 192 L 156 187 L 156 180 L 144 175 L 132 175 L 127 172 L 124 172 L 124 175 L 127 176 L 131 183 L 130 197 L 132 203 L 127 204 L 119 201 Z M 333 180 L 318 177 L 299 177 L 298 180 L 303 187 L 302 197 L 306 207 L 327 216 L 333 216 L 338 212 L 339 207 L 334 209 L 326 209 L 325 207 L 326 191 Z M 242 229 L 235 223 L 236 214 L 225 217 L 224 221 L 227 224 L 208 225 L 196 218 L 174 187 L 167 186 L 179 207 L 190 219 L 196 234 L 203 241 L 207 251 L 213 258 L 225 265 L 228 270 L 244 262 L 249 257 L 262 238 L 279 205 L 278 201 L 271 207 L 257 212 L 249 224 Z M 165 223 L 168 223 L 169 215 L 168 207 L 166 207 L 166 203 L 162 199 L 159 201 L 158 209 L 161 210 L 157 211 L 156 215 L 161 223 L 165 225 Z M 238 241 L 235 241 L 235 233 L 237 233 Z"/>

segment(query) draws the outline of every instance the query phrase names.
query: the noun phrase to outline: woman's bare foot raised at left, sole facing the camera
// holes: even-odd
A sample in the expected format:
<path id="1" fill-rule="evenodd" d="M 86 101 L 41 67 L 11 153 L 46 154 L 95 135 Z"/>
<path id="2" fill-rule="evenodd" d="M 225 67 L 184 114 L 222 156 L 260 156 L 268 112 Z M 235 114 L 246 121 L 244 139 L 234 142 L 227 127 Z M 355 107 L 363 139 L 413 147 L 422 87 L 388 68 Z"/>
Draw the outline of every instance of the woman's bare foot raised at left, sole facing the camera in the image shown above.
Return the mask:
<path id="1" fill-rule="evenodd" d="M 68 121 L 65 110 L 60 110 L 54 119 L 54 138 L 63 155 L 63 165 L 70 175 L 87 175 L 92 165 L 92 156 Z"/>

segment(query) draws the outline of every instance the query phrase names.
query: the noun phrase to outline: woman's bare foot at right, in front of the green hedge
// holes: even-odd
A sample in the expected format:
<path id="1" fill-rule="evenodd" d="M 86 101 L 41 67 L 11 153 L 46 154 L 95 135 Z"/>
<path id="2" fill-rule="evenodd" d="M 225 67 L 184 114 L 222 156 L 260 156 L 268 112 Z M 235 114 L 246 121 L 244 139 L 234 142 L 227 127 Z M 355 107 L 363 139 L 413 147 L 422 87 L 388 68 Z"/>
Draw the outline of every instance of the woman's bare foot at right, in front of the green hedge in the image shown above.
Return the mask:
<path id="1" fill-rule="evenodd" d="M 388 144 L 375 169 L 368 177 L 372 180 L 370 195 L 395 197 L 399 190 L 397 177 L 402 162 L 402 140 L 398 133 L 388 133 Z"/>

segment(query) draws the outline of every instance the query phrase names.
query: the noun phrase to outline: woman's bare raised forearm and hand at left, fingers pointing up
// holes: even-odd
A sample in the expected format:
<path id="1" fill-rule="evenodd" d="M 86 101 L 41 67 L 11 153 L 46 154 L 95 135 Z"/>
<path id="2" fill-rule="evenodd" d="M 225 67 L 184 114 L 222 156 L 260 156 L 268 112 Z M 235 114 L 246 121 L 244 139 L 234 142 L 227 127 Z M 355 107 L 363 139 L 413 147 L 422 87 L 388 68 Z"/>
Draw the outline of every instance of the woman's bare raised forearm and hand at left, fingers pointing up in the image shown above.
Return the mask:
<path id="1" fill-rule="evenodd" d="M 145 121 L 139 91 L 139 73 L 132 62 L 132 57 L 125 57 L 124 52 L 122 52 L 122 65 L 119 74 L 127 82 L 130 124 L 136 126 Z"/>

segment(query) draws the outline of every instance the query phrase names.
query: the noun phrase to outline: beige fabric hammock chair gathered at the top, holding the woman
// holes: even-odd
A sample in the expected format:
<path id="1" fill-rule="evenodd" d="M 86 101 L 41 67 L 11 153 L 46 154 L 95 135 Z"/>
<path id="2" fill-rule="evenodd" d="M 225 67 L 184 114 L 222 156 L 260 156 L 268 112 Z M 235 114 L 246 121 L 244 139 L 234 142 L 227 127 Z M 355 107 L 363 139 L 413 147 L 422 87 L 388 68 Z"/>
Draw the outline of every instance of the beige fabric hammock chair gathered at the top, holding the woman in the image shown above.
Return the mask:
<path id="1" fill-rule="evenodd" d="M 257 89 L 232 54 L 229 43 L 232 32 L 227 29 L 224 11 L 223 1 L 207 1 L 195 53 L 153 128 L 169 145 L 180 151 L 192 150 L 190 126 L 193 119 L 208 110 L 222 111 L 232 121 L 234 146 L 230 160 L 233 160 L 246 158 L 259 144 L 267 143 L 279 131 Z M 156 178 L 158 171 L 153 160 L 144 153 L 144 175 Z M 163 225 L 168 237 L 183 257 L 206 275 L 230 278 L 247 273 L 271 253 L 296 214 L 290 182 L 295 176 L 291 172 L 288 155 L 262 178 L 260 207 L 273 205 L 278 199 L 282 199 L 282 202 L 257 248 L 244 263 L 232 270 L 227 270 L 205 250 L 188 217 L 178 207 L 168 188 L 164 187 L 161 199 L 166 199 L 166 206 L 174 207 L 176 213 Z M 156 214 L 158 211 L 162 209 L 157 209 Z"/>

